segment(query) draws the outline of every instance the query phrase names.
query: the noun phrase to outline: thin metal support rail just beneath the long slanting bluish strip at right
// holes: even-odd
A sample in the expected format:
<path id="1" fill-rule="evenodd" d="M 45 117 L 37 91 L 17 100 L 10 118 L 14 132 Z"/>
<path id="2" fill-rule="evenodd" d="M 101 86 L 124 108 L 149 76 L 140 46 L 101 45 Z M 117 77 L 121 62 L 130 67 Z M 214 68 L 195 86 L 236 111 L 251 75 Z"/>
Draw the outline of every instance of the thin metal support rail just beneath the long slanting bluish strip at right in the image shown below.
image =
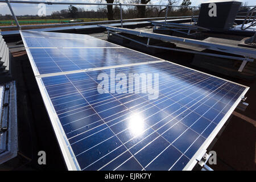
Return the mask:
<path id="1" fill-rule="evenodd" d="M 110 31 L 110 32 L 111 32 L 111 31 Z M 146 46 L 146 47 L 160 48 L 160 49 L 166 49 L 166 50 L 170 50 L 170 51 L 179 51 L 179 52 L 187 52 L 187 53 L 197 53 L 197 54 L 205 55 L 205 56 L 222 57 L 222 58 L 226 58 L 226 59 L 235 59 L 235 60 L 240 60 L 240 61 L 245 60 L 243 57 L 218 55 L 218 54 L 216 54 L 216 53 L 207 53 L 207 52 L 199 52 L 199 51 L 189 51 L 189 50 L 185 50 L 185 49 L 177 49 L 177 48 L 162 47 L 162 46 L 153 46 L 153 45 L 150 45 L 150 44 L 144 44 L 144 43 L 142 43 L 142 42 L 139 42 L 138 40 L 134 40 L 134 39 L 131 39 L 131 38 L 127 38 L 126 36 L 117 34 L 117 33 L 115 33 L 115 32 L 111 32 L 111 33 L 114 34 L 114 35 L 120 36 L 121 38 L 125 38 L 125 39 L 127 39 L 127 40 L 131 40 L 131 41 L 133 41 L 133 42 L 135 42 L 135 43 L 141 44 L 141 45 Z M 251 61 L 253 61 L 253 60 L 251 60 Z"/>

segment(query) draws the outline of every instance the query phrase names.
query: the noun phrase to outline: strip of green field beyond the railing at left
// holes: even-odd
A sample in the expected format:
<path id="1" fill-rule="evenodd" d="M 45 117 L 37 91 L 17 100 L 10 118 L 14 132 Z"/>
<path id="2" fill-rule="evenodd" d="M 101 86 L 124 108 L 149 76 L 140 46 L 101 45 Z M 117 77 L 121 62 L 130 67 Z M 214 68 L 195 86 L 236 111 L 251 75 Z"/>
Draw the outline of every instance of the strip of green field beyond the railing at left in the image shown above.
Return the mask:
<path id="1" fill-rule="evenodd" d="M 82 20 L 82 22 L 96 22 L 96 21 L 103 21 L 108 20 L 107 18 L 77 18 Z M 72 18 L 66 19 L 20 19 L 19 24 L 46 24 L 46 23 L 69 23 L 69 20 Z M 0 26 L 9 26 L 14 25 L 14 20 L 0 20 Z"/>

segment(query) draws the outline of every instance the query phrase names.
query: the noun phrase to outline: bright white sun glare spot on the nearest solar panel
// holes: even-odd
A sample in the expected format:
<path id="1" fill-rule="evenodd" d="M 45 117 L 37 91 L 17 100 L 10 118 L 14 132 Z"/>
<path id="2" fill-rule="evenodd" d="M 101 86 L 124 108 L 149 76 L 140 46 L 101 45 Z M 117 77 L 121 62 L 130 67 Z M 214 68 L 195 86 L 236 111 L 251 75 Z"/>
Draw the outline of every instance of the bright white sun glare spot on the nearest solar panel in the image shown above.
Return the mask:
<path id="1" fill-rule="evenodd" d="M 134 113 L 131 115 L 129 119 L 129 130 L 133 135 L 139 135 L 144 130 L 145 123 L 143 117 L 138 114 Z"/>

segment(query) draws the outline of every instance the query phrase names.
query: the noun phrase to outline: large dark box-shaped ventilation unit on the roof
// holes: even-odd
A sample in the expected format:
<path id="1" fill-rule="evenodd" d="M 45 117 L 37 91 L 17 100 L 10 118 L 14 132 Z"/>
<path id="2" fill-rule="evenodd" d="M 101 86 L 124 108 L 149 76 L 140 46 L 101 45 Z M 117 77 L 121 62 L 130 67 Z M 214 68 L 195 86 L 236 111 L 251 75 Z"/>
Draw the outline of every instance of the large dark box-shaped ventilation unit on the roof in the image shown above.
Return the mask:
<path id="1" fill-rule="evenodd" d="M 232 0 L 212 0 L 201 3 L 198 25 L 212 31 L 232 28 L 241 2 Z"/>

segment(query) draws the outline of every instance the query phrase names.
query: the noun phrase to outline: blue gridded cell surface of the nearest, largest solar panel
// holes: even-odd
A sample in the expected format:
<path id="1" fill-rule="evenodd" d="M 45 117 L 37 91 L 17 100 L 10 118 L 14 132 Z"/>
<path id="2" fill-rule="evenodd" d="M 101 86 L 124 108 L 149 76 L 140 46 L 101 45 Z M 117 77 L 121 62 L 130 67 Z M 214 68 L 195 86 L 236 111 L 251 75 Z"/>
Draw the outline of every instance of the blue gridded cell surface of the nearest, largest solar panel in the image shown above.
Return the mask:
<path id="1" fill-rule="evenodd" d="M 115 68 L 127 77 L 158 73 L 158 98 L 150 100 L 100 94 L 100 73 L 110 69 L 42 78 L 82 170 L 181 170 L 245 90 L 167 62 Z"/>

